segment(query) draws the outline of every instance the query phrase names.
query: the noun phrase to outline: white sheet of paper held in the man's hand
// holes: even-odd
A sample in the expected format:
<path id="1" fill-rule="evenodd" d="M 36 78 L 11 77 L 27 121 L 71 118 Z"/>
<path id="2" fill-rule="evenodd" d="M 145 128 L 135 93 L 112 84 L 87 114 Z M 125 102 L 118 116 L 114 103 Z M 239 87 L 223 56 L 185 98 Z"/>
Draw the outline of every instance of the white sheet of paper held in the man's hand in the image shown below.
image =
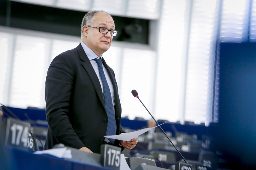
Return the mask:
<path id="1" fill-rule="evenodd" d="M 165 124 L 165 123 L 163 123 Z M 161 125 L 163 125 L 161 124 Z M 158 126 L 161 126 L 161 125 L 158 125 Z M 144 128 L 144 129 L 141 129 L 141 130 L 137 130 L 137 131 L 132 131 L 132 132 L 128 132 L 128 133 L 121 133 L 121 134 L 118 134 L 118 135 L 110 135 L 110 136 L 104 136 L 104 137 L 107 137 L 107 138 L 111 138 L 111 139 L 117 139 L 117 140 L 125 140 L 125 141 L 130 141 L 132 140 L 133 138 L 135 138 L 136 136 L 139 136 L 151 129 L 154 129 L 158 126 L 155 126 L 153 128 Z"/>

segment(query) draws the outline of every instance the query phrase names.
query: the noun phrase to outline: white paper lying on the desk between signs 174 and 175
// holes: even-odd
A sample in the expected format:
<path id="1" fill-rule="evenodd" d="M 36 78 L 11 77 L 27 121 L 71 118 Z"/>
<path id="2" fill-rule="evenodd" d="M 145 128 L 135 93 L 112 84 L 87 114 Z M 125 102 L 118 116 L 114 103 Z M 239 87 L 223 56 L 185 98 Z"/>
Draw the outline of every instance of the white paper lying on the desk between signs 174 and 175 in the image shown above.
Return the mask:
<path id="1" fill-rule="evenodd" d="M 35 151 L 34 154 L 49 154 L 58 158 L 72 158 L 71 150 L 66 147 Z"/>

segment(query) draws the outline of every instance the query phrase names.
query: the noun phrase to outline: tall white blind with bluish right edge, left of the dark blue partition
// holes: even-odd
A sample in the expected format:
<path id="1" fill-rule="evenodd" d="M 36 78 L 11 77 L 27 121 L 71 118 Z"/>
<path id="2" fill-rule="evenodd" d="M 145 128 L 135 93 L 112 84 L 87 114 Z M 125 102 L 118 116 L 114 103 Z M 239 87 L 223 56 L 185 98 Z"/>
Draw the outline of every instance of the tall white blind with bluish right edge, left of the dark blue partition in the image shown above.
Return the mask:
<path id="1" fill-rule="evenodd" d="M 217 0 L 194 0 L 188 46 L 185 120 L 210 122 L 212 113 Z"/>

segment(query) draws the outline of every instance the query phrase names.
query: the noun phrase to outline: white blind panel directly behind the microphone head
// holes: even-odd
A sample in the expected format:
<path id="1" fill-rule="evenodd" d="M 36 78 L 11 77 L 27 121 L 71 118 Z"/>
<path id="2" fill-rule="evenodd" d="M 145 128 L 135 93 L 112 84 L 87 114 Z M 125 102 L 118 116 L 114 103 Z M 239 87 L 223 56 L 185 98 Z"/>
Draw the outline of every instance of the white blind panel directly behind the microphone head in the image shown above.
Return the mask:
<path id="1" fill-rule="evenodd" d="M 154 51 L 124 48 L 121 87 L 119 88 L 122 116 L 128 116 L 130 119 L 150 118 L 143 105 L 132 95 L 131 91 L 137 90 L 140 99 L 152 111 L 154 60 Z"/>

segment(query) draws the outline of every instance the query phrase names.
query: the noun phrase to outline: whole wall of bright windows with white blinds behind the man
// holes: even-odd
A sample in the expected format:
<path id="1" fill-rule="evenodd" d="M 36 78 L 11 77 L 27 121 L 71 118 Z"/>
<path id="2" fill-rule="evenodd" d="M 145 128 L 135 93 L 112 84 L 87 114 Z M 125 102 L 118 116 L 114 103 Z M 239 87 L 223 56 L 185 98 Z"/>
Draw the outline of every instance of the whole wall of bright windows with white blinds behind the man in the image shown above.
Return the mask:
<path id="1" fill-rule="evenodd" d="M 56 2 L 60 5 L 60 1 Z M 116 1 L 113 13 L 123 15 L 118 14 L 123 2 Z M 150 119 L 132 96 L 131 91 L 135 89 L 156 119 L 206 125 L 218 122 L 218 45 L 256 41 L 255 0 L 143 0 L 140 3 L 148 6 L 145 14 L 138 12 L 138 5 L 129 0 L 124 15 L 152 19 L 150 32 L 156 38 L 150 42 L 154 44 L 114 40 L 103 54 L 115 72 L 122 116 Z M 94 5 L 97 4 L 99 1 L 95 1 Z M 45 76 L 50 62 L 79 42 L 80 37 L 0 27 L 0 102 L 12 107 L 44 108 Z"/>

